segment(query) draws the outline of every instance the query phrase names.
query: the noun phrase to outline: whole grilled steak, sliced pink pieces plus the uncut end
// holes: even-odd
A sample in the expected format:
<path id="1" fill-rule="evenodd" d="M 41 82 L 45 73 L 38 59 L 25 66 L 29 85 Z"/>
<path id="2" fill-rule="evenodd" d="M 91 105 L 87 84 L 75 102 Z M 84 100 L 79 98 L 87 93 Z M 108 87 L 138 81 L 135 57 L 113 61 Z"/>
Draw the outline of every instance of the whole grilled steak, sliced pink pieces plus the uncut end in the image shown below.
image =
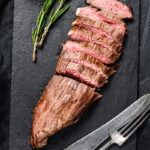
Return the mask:
<path id="1" fill-rule="evenodd" d="M 97 8 L 77 9 L 78 18 L 68 32 L 71 40 L 63 43 L 58 57 L 59 75 L 53 76 L 34 110 L 30 138 L 33 148 L 43 147 L 48 136 L 77 122 L 86 108 L 101 97 L 95 88 L 104 86 L 116 72 L 115 67 L 106 64 L 113 64 L 121 55 L 127 32 L 123 19 L 133 17 L 131 10 L 117 0 L 87 3 Z"/>

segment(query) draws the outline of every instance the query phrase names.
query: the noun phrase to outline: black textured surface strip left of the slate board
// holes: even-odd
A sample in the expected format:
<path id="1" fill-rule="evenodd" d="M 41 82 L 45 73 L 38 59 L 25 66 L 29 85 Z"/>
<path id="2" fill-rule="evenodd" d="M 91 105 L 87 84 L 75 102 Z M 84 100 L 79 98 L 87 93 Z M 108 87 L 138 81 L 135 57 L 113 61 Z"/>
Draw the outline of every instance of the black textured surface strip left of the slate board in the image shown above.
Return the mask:
<path id="1" fill-rule="evenodd" d="M 0 150 L 8 150 L 13 0 L 0 0 Z"/>

